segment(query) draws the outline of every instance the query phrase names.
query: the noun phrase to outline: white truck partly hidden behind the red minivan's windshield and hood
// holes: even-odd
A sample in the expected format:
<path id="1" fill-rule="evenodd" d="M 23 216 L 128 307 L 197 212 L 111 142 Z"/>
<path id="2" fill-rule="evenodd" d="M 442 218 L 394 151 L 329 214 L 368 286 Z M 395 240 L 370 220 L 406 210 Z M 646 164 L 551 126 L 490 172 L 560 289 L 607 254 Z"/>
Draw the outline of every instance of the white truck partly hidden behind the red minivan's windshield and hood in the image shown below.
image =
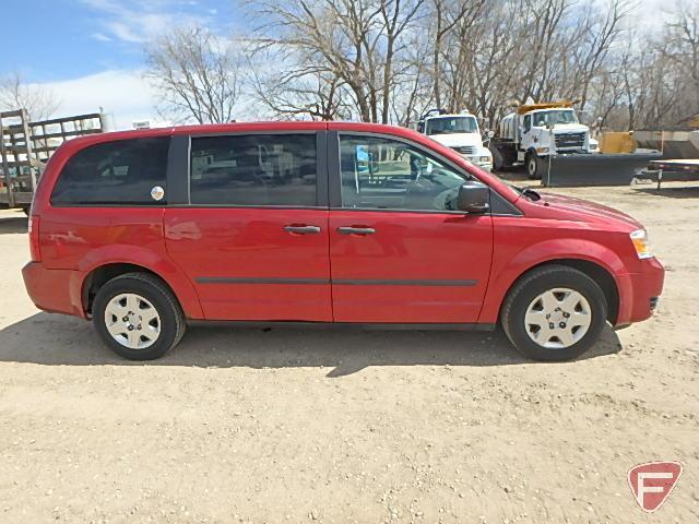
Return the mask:
<path id="1" fill-rule="evenodd" d="M 433 109 L 419 120 L 417 131 L 451 147 L 479 168 L 493 169 L 493 154 L 483 145 L 478 120 L 470 112 L 448 115 Z"/>

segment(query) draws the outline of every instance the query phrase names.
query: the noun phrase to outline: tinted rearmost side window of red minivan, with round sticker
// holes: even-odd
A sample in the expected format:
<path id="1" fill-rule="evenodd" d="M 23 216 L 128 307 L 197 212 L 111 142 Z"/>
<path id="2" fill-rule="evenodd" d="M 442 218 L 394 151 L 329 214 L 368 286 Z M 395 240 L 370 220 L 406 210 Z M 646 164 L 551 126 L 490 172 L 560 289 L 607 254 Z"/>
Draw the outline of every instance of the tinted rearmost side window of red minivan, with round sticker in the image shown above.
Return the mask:
<path id="1" fill-rule="evenodd" d="M 151 190 L 165 188 L 169 136 L 105 142 L 79 151 L 61 170 L 57 205 L 163 205 Z"/>

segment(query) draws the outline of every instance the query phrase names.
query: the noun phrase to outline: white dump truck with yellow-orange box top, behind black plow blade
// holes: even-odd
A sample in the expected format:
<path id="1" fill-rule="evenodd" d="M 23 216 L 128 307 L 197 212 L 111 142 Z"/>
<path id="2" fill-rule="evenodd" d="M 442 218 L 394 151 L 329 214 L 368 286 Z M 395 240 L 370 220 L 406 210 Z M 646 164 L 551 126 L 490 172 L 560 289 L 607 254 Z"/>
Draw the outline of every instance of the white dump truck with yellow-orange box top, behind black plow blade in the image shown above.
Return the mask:
<path id="1" fill-rule="evenodd" d="M 542 178 L 556 155 L 590 154 L 595 150 L 590 128 L 578 121 L 572 102 L 525 104 L 500 120 L 490 141 L 495 169 L 524 164 L 531 179 Z"/>

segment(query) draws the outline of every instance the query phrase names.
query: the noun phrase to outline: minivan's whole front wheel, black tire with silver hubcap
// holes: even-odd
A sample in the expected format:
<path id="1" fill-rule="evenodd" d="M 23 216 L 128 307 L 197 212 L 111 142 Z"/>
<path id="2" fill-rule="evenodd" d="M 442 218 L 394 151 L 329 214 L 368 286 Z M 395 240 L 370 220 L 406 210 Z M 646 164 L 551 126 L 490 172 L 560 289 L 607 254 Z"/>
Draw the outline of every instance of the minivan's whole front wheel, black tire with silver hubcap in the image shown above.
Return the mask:
<path id="1" fill-rule="evenodd" d="M 545 265 L 525 274 L 501 311 L 505 333 L 534 360 L 569 360 L 602 334 L 607 303 L 596 282 L 566 265 Z"/>

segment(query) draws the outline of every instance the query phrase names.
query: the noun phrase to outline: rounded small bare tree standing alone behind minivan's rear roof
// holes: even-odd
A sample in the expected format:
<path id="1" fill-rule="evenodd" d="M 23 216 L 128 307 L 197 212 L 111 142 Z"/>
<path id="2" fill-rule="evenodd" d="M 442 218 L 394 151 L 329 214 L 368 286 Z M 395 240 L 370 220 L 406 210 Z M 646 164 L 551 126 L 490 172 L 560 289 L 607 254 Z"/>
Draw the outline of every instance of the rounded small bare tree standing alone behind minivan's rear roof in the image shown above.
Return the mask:
<path id="1" fill-rule="evenodd" d="M 162 96 L 158 110 L 177 121 L 233 120 L 240 97 L 232 43 L 203 27 L 179 27 L 145 48 L 145 72 Z"/>

